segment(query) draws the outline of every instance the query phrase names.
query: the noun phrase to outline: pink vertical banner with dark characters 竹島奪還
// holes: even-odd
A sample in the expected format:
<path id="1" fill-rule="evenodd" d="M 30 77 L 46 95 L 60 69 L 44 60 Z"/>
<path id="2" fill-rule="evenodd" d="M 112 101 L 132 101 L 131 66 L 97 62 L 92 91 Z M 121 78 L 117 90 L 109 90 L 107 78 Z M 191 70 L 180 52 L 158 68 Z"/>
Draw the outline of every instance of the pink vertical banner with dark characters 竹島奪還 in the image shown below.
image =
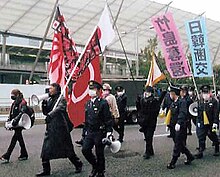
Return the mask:
<path id="1" fill-rule="evenodd" d="M 159 36 L 166 67 L 172 78 L 190 77 L 190 69 L 171 13 L 153 17 L 151 22 Z"/>

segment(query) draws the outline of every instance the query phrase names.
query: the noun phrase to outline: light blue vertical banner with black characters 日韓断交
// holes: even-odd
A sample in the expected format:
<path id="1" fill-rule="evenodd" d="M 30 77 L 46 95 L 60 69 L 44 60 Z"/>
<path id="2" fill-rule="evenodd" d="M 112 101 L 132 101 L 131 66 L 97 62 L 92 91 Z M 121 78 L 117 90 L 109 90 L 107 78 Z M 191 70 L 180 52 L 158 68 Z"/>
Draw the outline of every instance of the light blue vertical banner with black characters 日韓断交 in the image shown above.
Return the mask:
<path id="1" fill-rule="evenodd" d="M 205 19 L 186 22 L 189 46 L 192 53 L 193 73 L 195 77 L 212 77 L 212 65 L 209 54 Z"/>

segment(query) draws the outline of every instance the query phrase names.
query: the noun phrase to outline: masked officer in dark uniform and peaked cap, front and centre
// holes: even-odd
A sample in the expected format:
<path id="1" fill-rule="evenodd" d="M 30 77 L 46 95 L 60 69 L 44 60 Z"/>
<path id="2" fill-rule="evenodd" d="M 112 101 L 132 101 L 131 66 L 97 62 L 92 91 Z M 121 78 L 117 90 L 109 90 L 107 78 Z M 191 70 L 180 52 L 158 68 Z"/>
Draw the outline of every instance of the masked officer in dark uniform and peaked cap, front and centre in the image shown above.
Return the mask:
<path id="1" fill-rule="evenodd" d="M 102 139 L 112 134 L 112 116 L 108 102 L 101 98 L 102 85 L 96 81 L 89 82 L 89 96 L 85 108 L 86 136 L 82 145 L 82 153 L 92 165 L 89 177 L 104 177 L 105 173 L 105 145 Z M 92 153 L 95 146 L 96 156 Z"/>

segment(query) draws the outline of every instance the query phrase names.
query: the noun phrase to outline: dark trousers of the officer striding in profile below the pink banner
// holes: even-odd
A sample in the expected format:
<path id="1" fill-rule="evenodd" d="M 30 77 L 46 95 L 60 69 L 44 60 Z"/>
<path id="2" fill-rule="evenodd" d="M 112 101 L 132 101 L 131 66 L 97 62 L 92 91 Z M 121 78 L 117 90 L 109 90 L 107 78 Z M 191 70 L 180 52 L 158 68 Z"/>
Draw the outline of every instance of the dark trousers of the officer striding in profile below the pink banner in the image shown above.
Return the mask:
<path id="1" fill-rule="evenodd" d="M 185 154 L 188 157 L 192 156 L 188 148 L 186 147 L 186 136 L 187 128 L 182 126 L 180 131 L 175 132 L 174 136 L 174 148 L 173 148 L 173 157 L 178 158 L 180 153 Z"/>

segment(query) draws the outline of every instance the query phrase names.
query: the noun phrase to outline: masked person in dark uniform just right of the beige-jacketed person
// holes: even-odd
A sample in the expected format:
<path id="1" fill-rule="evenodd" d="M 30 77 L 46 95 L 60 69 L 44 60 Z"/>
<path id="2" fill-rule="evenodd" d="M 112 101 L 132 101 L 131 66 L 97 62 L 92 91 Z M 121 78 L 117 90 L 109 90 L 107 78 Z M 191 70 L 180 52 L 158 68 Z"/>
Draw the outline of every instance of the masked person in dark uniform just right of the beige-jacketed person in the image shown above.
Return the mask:
<path id="1" fill-rule="evenodd" d="M 125 129 L 125 119 L 126 119 L 126 114 L 127 114 L 127 95 L 125 93 L 125 89 L 122 86 L 117 86 L 115 88 L 116 91 L 116 102 L 118 105 L 118 110 L 119 110 L 119 121 L 118 125 L 115 126 L 115 130 L 119 134 L 118 140 L 122 143 L 124 140 L 124 129 Z"/>

